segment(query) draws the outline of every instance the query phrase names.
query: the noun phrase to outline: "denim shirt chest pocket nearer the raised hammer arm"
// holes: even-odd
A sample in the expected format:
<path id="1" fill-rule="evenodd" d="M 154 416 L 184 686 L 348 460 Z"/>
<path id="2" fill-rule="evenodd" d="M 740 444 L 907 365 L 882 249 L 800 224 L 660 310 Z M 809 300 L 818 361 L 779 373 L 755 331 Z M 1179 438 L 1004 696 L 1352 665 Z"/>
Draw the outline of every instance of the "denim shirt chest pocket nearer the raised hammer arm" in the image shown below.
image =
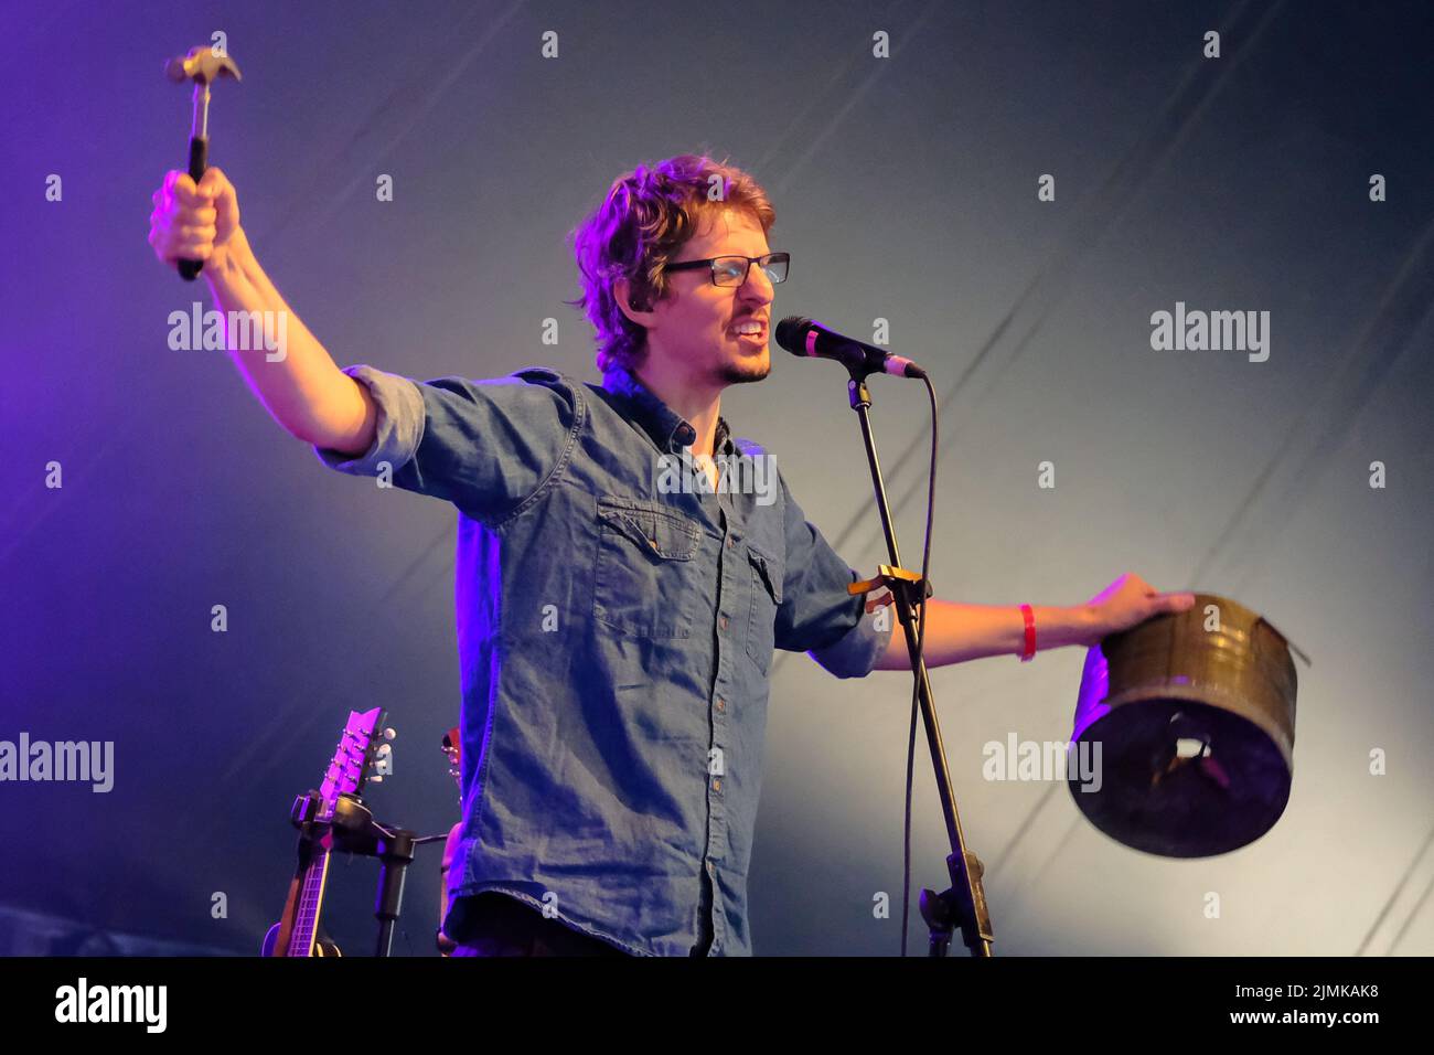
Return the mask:
<path id="1" fill-rule="evenodd" d="M 701 528 L 661 502 L 598 498 L 592 617 L 630 637 L 690 637 Z"/>

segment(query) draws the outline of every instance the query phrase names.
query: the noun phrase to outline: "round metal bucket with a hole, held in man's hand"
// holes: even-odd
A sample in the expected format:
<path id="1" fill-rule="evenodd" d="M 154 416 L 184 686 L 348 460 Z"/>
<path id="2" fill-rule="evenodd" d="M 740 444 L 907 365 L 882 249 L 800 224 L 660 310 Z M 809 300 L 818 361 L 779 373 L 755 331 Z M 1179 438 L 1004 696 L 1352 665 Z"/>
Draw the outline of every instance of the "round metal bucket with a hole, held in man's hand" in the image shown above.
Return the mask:
<path id="1" fill-rule="evenodd" d="M 1111 838 L 1166 857 L 1263 835 L 1293 777 L 1289 647 L 1263 616 L 1205 593 L 1106 637 L 1086 656 L 1071 733 L 1087 759 L 1100 745 L 1100 779 L 1068 766 L 1076 805 Z"/>

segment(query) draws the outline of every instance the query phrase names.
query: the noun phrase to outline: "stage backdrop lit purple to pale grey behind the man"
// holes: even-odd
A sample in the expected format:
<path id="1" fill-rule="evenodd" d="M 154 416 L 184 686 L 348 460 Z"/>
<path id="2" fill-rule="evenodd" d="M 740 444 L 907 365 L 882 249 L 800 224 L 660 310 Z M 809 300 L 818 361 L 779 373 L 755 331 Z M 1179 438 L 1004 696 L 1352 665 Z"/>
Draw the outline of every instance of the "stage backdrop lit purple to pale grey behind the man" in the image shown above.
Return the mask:
<path id="1" fill-rule="evenodd" d="M 710 152 L 769 189 L 774 317 L 923 363 L 941 597 L 1074 604 L 1123 571 L 1305 650 L 1265 838 L 1150 857 L 988 745 L 1063 741 L 1083 652 L 934 673 L 1001 953 L 1434 952 L 1428 657 L 1434 72 L 1425 4 L 22 3 L 0 57 L 0 741 L 113 745 L 108 791 L 0 784 L 0 950 L 252 952 L 293 797 L 350 709 L 397 729 L 380 817 L 457 818 L 452 508 L 324 469 L 146 244 L 217 40 L 211 159 L 340 365 L 597 380 L 565 238 L 619 172 Z M 1217 36 L 1210 36 L 1217 34 Z M 380 188 L 391 181 L 391 200 Z M 1153 316 L 1248 311 L 1248 347 Z M 556 343 L 546 343 L 556 320 Z M 885 558 L 832 363 L 774 353 L 724 415 L 853 567 Z M 876 379 L 915 564 L 928 411 Z M 59 487 L 56 487 L 59 484 Z M 215 606 L 227 629 L 214 629 Z M 899 946 L 909 680 L 774 666 L 750 878 L 764 955 Z M 945 886 L 923 741 L 913 891 Z M 396 952 L 432 953 L 437 847 Z M 328 929 L 370 947 L 376 868 Z M 889 913 L 882 906 L 889 903 Z M 923 933 L 912 914 L 912 940 Z"/>

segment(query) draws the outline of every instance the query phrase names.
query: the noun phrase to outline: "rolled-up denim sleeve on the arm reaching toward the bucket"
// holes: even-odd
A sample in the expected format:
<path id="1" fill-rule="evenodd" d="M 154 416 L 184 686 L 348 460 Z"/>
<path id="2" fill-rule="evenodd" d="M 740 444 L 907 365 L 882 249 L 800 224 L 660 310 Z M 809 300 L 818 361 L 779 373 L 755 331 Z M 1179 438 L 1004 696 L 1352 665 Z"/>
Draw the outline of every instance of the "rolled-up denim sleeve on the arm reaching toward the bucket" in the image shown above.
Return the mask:
<path id="1" fill-rule="evenodd" d="M 780 472 L 777 474 L 780 479 Z M 866 611 L 866 596 L 846 587 L 860 576 L 847 567 L 802 512 L 782 481 L 786 561 L 776 643 L 806 652 L 837 677 L 865 677 L 891 640 L 891 617 Z M 886 629 L 879 629 L 885 626 Z"/>

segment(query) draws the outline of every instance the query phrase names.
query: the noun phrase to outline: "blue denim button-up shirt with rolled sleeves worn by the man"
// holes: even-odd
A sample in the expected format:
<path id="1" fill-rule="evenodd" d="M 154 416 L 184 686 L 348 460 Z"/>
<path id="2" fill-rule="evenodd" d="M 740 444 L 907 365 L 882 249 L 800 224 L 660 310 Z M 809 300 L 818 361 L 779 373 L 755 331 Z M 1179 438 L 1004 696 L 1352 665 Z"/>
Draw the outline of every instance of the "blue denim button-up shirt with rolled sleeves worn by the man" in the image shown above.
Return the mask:
<path id="1" fill-rule="evenodd" d="M 457 508 L 455 914 L 499 890 L 630 953 L 687 956 L 706 934 L 708 955 L 750 955 L 773 649 L 866 676 L 891 630 L 847 593 L 858 574 L 773 459 L 763 487 L 733 487 L 733 462 L 717 492 L 700 469 L 698 487 L 664 478 L 695 431 L 625 369 L 601 386 L 541 366 L 346 373 L 377 436 L 320 459 Z M 766 456 L 724 432 L 717 454 Z"/>

